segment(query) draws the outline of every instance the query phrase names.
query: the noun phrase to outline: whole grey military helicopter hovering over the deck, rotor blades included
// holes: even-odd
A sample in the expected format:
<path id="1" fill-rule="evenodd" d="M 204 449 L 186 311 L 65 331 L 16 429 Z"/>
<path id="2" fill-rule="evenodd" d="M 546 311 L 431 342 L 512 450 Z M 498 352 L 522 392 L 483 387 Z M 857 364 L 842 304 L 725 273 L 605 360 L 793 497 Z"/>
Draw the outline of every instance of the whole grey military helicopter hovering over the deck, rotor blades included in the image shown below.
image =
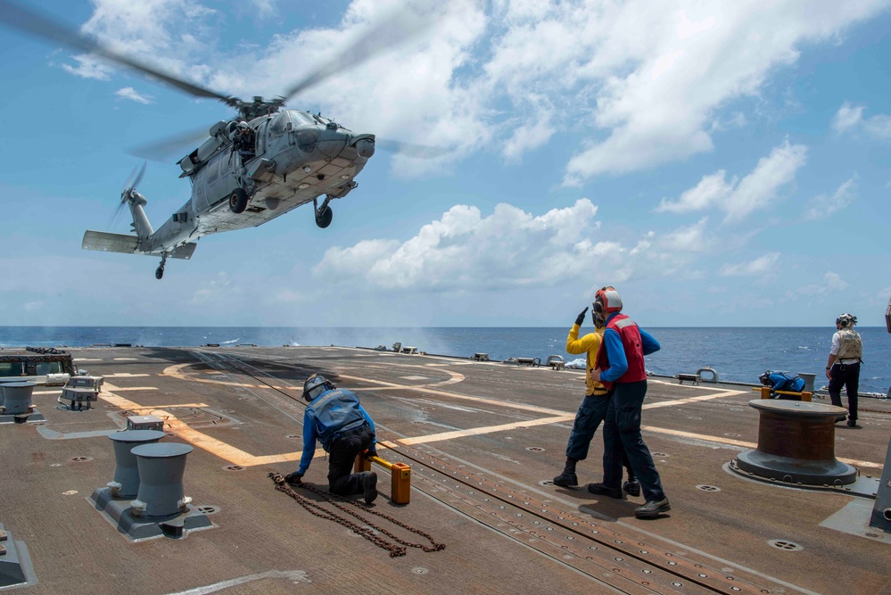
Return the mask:
<path id="1" fill-rule="evenodd" d="M 334 59 L 311 70 L 288 87 L 284 96 L 243 101 L 195 85 L 177 76 L 120 54 L 54 18 L 21 4 L 0 0 L 0 23 L 37 37 L 62 43 L 90 54 L 119 62 L 159 79 L 190 95 L 216 98 L 234 108 L 231 119 L 219 120 L 191 153 L 177 164 L 180 178 L 192 181 L 192 196 L 154 230 L 144 212 L 145 198 L 136 192 L 142 169 L 131 176 L 121 193 L 119 211 L 127 205 L 136 235 L 87 231 L 82 248 L 161 257 L 155 277 L 164 275 L 168 258 L 190 259 L 195 242 L 222 231 L 256 227 L 297 207 L 312 202 L 318 227 L 331 225 L 330 202 L 349 194 L 356 176 L 375 154 L 375 135 L 356 134 L 320 114 L 283 109 L 294 95 L 319 82 L 367 61 L 393 45 L 415 37 L 433 24 L 431 14 L 401 10 L 379 22 L 346 47 Z M 192 134 L 180 136 L 178 142 Z M 152 149 L 176 145 L 166 141 Z M 441 155 L 441 150 L 420 145 L 385 142 L 387 148 L 418 158 Z M 319 200 L 321 203 L 319 204 Z"/>

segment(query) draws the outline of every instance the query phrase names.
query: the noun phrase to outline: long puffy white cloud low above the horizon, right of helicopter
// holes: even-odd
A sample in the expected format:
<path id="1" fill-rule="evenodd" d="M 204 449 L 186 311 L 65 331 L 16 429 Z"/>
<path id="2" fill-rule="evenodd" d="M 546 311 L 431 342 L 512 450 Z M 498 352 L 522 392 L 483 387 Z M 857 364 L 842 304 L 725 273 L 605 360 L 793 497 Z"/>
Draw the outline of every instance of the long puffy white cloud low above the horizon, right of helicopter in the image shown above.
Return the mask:
<path id="1" fill-rule="evenodd" d="M 623 252 L 615 242 L 590 238 L 596 215 L 587 198 L 538 217 L 507 203 L 487 217 L 474 206 L 456 205 L 405 242 L 365 240 L 330 248 L 313 270 L 417 291 L 546 284 Z"/>

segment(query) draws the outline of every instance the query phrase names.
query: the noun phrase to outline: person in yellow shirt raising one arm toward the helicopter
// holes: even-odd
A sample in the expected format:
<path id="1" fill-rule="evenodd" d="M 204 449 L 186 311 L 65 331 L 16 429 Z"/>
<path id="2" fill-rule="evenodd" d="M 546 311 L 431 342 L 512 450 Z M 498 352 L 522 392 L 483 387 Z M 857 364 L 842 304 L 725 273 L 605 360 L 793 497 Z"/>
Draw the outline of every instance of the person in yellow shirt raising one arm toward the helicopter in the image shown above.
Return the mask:
<path id="1" fill-rule="evenodd" d="M 594 332 L 579 338 L 579 331 L 582 322 L 585 320 L 585 314 L 588 308 L 582 310 L 582 313 L 575 318 L 575 324 L 569 329 L 569 335 L 566 337 L 566 351 L 573 355 L 585 354 L 585 398 L 578 412 L 575 414 L 573 422 L 573 430 L 569 434 L 569 443 L 566 444 L 566 467 L 563 473 L 554 478 L 554 485 L 564 487 L 578 485 L 579 480 L 575 475 L 575 464 L 580 460 L 588 458 L 588 447 L 591 439 L 597 432 L 600 423 L 606 416 L 606 408 L 609 407 L 609 398 L 611 393 L 606 391 L 606 387 L 600 384 L 591 376 L 591 372 L 597 365 L 597 353 L 603 343 L 603 330 L 605 325 L 604 319 L 596 312 L 591 312 L 591 318 L 594 320 Z M 627 459 L 626 459 L 627 460 Z M 639 496 L 640 483 L 634 478 L 631 467 L 625 464 L 628 470 L 628 481 L 623 484 L 623 490 L 631 496 Z M 619 497 L 621 497 L 621 492 Z"/>

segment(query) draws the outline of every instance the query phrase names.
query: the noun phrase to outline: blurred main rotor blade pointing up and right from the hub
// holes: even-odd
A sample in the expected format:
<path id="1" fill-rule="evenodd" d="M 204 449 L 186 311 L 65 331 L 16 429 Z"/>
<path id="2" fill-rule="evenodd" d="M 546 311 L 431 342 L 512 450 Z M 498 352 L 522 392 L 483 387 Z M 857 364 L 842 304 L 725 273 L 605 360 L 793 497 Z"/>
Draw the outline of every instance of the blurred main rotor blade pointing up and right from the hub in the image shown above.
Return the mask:
<path id="1" fill-rule="evenodd" d="M 367 62 L 377 54 L 417 37 L 433 26 L 433 22 L 433 15 L 421 16 L 405 9 L 393 12 L 388 18 L 368 29 L 340 54 L 289 87 L 285 95 L 280 98 L 281 103 L 284 104 L 294 95 L 318 85 L 335 74 Z"/>

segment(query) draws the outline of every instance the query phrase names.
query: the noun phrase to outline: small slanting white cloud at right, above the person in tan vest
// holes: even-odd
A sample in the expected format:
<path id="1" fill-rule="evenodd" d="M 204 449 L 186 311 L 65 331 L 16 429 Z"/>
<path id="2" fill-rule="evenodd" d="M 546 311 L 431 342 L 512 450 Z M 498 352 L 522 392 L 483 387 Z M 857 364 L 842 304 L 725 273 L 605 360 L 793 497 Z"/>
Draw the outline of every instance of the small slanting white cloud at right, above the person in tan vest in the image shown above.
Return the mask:
<path id="1" fill-rule="evenodd" d="M 726 211 L 725 220 L 745 219 L 776 200 L 780 188 L 794 181 L 796 171 L 804 166 L 806 159 L 807 147 L 790 145 L 787 139 L 758 161 L 745 178 L 727 181 L 727 173 L 720 169 L 704 176 L 677 201 L 662 199 L 656 211 L 689 212 L 716 207 Z"/>

